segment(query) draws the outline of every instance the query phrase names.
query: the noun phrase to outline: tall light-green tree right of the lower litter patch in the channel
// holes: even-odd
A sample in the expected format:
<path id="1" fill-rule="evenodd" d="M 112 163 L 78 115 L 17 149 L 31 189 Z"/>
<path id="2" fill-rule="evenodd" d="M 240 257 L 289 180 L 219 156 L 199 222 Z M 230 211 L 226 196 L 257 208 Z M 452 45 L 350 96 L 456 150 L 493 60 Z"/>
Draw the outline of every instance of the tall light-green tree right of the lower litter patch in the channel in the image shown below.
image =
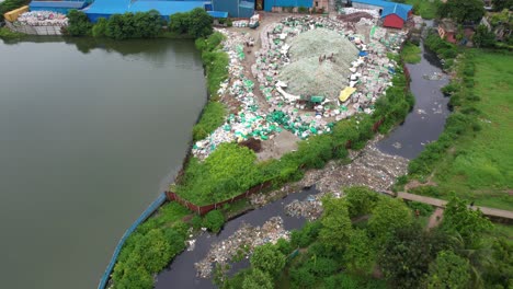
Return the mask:
<path id="1" fill-rule="evenodd" d="M 347 212 L 347 203 L 343 198 L 327 196 L 322 199 L 324 209 L 319 232 L 319 239 L 328 247 L 343 251 L 352 233 L 351 219 Z"/>

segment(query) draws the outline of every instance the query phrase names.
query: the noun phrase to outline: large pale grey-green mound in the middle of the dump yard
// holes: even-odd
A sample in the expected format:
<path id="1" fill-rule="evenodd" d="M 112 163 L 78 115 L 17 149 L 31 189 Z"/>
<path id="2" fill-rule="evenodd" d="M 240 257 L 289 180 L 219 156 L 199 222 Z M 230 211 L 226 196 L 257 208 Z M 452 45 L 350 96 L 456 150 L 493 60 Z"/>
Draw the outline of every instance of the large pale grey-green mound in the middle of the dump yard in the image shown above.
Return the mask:
<path id="1" fill-rule="evenodd" d="M 335 100 L 351 74 L 349 68 L 358 49 L 339 33 L 317 28 L 290 41 L 292 63 L 284 66 L 280 80 L 295 95 L 322 95 Z"/>

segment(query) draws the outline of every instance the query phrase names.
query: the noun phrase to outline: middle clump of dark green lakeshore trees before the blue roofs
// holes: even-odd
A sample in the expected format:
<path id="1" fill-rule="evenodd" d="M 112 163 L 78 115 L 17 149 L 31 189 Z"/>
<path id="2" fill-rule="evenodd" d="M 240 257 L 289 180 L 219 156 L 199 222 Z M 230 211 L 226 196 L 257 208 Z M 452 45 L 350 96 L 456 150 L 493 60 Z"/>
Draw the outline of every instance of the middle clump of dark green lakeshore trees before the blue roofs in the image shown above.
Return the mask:
<path id="1" fill-rule="evenodd" d="M 124 13 L 112 15 L 105 27 L 105 35 L 114 39 L 155 38 L 164 25 L 156 10 L 148 12 Z"/>

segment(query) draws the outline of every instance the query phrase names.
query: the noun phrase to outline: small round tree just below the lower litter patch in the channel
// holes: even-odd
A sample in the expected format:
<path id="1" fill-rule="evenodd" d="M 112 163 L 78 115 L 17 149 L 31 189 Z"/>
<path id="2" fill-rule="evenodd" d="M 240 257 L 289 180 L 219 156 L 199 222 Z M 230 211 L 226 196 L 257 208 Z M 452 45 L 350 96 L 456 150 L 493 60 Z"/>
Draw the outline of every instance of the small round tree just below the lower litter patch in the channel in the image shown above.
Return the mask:
<path id="1" fill-rule="evenodd" d="M 255 247 L 250 259 L 253 268 L 260 269 L 270 276 L 277 276 L 285 267 L 285 255 L 271 243 Z"/>

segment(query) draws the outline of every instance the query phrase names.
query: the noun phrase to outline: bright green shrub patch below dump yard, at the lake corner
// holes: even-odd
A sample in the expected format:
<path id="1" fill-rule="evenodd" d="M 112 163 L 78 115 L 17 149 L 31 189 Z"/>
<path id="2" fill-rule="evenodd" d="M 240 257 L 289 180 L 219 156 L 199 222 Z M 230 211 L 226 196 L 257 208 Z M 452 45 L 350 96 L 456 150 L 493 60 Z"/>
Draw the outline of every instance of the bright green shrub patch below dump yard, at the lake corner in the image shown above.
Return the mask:
<path id="1" fill-rule="evenodd" d="M 196 205 L 236 196 L 260 183 L 255 160 L 250 149 L 223 143 L 204 162 L 195 158 L 190 161 L 176 193 Z"/>

